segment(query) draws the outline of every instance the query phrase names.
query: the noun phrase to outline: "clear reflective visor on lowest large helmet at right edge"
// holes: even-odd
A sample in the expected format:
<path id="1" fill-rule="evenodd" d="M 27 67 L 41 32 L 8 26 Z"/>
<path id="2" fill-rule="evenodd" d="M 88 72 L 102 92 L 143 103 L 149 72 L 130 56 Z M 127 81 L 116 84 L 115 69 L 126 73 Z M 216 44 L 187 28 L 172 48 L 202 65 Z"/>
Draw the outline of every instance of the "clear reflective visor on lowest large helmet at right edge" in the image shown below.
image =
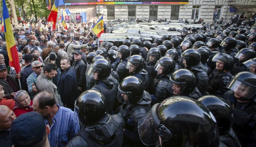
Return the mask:
<path id="1" fill-rule="evenodd" d="M 256 94 L 255 86 L 249 85 L 237 79 L 232 79 L 227 88 L 234 91 L 234 95 L 247 99 L 252 98 L 252 96 Z"/>

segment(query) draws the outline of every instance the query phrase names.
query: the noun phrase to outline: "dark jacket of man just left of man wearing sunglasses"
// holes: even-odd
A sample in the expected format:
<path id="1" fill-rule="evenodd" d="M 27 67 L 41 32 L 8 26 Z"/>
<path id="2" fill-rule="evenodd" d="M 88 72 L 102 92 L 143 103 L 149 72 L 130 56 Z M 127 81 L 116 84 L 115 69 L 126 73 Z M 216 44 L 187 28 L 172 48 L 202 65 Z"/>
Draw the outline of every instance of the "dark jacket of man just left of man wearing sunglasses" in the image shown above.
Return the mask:
<path id="1" fill-rule="evenodd" d="M 26 90 L 27 92 L 29 92 L 27 90 L 27 78 L 29 77 L 29 75 L 31 75 L 31 73 L 33 73 L 33 69 L 31 66 L 32 63 L 30 63 L 29 65 L 27 65 L 22 72 L 20 72 L 20 84 L 21 84 L 21 88 L 22 90 Z"/>

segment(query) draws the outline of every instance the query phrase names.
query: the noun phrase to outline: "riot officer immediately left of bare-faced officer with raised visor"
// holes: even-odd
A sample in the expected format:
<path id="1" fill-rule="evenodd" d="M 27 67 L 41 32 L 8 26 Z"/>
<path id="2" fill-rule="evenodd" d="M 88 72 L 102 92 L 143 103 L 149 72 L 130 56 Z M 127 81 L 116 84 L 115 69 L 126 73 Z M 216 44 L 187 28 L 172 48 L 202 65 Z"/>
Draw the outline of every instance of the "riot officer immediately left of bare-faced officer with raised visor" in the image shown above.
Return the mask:
<path id="1" fill-rule="evenodd" d="M 192 71 L 196 76 L 196 87 L 201 94 L 206 94 L 209 85 L 209 72 L 201 62 L 201 55 L 195 49 L 185 50 L 180 57 L 180 64 L 185 65 L 185 68 Z"/>

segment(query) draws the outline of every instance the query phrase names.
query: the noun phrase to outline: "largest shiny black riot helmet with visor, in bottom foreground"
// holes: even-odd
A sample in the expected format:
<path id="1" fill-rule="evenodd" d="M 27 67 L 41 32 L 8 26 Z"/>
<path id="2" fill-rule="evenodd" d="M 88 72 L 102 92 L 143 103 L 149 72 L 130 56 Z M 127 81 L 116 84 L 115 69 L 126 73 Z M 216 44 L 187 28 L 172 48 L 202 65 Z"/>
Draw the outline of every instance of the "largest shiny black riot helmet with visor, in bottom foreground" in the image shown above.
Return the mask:
<path id="1" fill-rule="evenodd" d="M 219 146 L 214 116 L 202 103 L 187 96 L 174 96 L 155 104 L 139 120 L 138 132 L 146 146 L 159 146 L 160 143 L 163 147 L 182 146 L 188 144 L 184 135 L 190 136 L 189 146 Z"/>

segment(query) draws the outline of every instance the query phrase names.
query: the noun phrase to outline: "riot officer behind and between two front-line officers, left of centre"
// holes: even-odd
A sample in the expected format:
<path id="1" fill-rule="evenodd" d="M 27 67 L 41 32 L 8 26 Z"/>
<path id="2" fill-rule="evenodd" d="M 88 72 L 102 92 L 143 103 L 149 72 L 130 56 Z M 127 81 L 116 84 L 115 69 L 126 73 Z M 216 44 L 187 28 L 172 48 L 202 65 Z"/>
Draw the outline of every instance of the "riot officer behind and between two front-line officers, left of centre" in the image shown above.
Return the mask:
<path id="1" fill-rule="evenodd" d="M 116 72 L 119 75 L 120 81 L 129 75 L 129 71 L 125 68 L 127 60 L 131 54 L 130 49 L 126 45 L 121 45 L 116 51 L 116 57 L 119 57 L 120 61 L 117 63 Z"/>

